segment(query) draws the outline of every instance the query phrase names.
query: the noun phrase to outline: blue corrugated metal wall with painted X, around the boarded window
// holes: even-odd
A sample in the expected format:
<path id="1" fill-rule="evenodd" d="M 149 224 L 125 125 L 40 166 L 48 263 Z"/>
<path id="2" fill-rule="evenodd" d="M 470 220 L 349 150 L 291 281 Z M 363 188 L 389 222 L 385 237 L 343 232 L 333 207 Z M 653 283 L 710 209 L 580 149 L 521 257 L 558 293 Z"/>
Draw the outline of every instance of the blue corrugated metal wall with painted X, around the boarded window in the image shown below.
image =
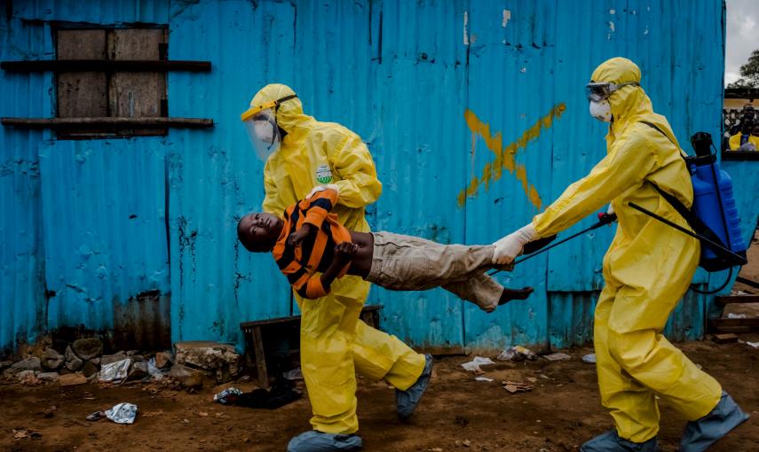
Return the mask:
<path id="1" fill-rule="evenodd" d="M 267 82 L 291 85 L 307 113 L 367 142 L 383 181 L 368 210 L 376 230 L 444 243 L 488 243 L 522 226 L 604 155 L 582 86 L 605 58 L 636 60 L 681 142 L 695 130 L 719 136 L 721 0 L 36 0 L 0 18 L 2 58 L 54 58 L 51 21 L 168 25 L 171 59 L 213 65 L 169 74 L 170 115 L 216 127 L 86 142 L 0 129 L 0 347 L 61 326 L 112 328 L 115 310 L 149 290 L 170 294 L 175 340 L 239 344 L 241 321 L 289 315 L 273 262 L 241 252 L 234 234 L 263 198 L 239 113 Z M 50 116 L 53 91 L 51 74 L 4 73 L 0 114 Z M 748 235 L 757 173 L 730 170 Z M 612 235 L 597 230 L 500 276 L 537 291 L 494 315 L 440 290 L 374 290 L 370 302 L 415 345 L 581 343 Z M 707 301 L 686 296 L 673 337 L 702 334 Z"/>

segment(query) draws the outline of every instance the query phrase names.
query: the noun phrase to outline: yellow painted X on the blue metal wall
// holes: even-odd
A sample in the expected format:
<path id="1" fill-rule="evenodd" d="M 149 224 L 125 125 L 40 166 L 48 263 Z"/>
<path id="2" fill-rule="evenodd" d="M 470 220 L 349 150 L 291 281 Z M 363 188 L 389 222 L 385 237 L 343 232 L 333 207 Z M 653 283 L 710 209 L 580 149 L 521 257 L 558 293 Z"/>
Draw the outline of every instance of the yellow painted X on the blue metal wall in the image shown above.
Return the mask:
<path id="1" fill-rule="evenodd" d="M 479 177 L 472 176 L 469 186 L 459 192 L 459 195 L 456 197 L 459 207 L 463 207 L 468 196 L 477 194 L 480 185 L 485 184 L 486 190 L 489 189 L 492 181 L 497 181 L 501 178 L 503 169 L 505 168 L 511 174 L 516 172 L 517 180 L 522 184 L 522 189 L 525 191 L 527 199 L 530 200 L 534 207 L 540 210 L 542 199 L 538 191 L 535 190 L 534 185 L 527 181 L 527 169 L 524 165 L 518 165 L 514 156 L 520 149 L 524 149 L 527 144 L 540 136 L 543 129 L 549 129 L 553 125 L 554 118 L 561 117 L 565 109 L 566 106 L 564 104 L 555 105 L 547 115 L 536 121 L 522 136 L 519 136 L 516 141 L 505 147 L 503 147 L 501 132 L 491 135 L 490 125 L 481 121 L 474 112 L 467 109 L 464 112 L 464 120 L 467 127 L 471 130 L 472 136 L 482 136 L 487 149 L 494 153 L 495 160 L 486 163 L 485 168 L 482 169 L 482 175 Z"/>

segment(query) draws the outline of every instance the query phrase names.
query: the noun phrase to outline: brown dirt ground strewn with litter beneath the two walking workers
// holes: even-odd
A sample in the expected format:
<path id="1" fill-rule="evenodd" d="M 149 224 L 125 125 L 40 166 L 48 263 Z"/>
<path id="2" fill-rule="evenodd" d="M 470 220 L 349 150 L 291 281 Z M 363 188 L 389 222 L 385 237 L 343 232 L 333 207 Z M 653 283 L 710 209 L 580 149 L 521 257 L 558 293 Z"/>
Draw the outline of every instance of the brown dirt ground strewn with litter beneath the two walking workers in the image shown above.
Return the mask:
<path id="1" fill-rule="evenodd" d="M 759 340 L 759 336 L 744 339 Z M 713 450 L 759 450 L 759 349 L 739 343 L 681 346 L 752 415 Z M 494 378 L 490 383 L 475 381 L 461 368 L 471 356 L 436 359 L 431 386 L 408 423 L 395 415 L 391 388 L 360 379 L 360 434 L 365 449 L 576 450 L 612 426 L 598 401 L 595 366 L 581 361 L 590 351 L 567 350 L 572 360 L 563 362 L 498 362 L 485 368 L 485 376 Z M 536 378 L 529 393 L 510 394 L 500 384 L 529 378 Z M 290 437 L 310 428 L 306 399 L 270 411 L 218 405 L 212 402 L 213 394 L 210 389 L 187 394 L 146 385 L 0 386 L 0 449 L 282 451 Z M 92 411 L 120 401 L 138 404 L 134 425 L 85 421 Z M 684 420 L 664 404 L 661 418 L 660 447 L 675 451 Z M 26 430 L 28 437 L 14 439 L 14 429 Z"/>

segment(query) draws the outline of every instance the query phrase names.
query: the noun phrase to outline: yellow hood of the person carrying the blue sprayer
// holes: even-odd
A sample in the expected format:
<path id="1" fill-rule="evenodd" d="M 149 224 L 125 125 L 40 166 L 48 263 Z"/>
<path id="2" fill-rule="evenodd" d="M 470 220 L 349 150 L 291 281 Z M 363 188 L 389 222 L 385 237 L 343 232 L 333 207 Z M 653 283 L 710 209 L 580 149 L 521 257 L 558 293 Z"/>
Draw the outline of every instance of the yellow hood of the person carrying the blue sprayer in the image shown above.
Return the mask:
<path id="1" fill-rule="evenodd" d="M 640 83 L 640 68 L 628 58 L 607 59 L 593 71 L 590 80 L 596 83 Z M 640 114 L 653 113 L 651 99 L 645 94 L 643 88 L 628 85 L 613 92 L 609 97 L 612 105 L 614 121 L 612 131 L 614 135 L 626 129 L 632 118 Z"/>

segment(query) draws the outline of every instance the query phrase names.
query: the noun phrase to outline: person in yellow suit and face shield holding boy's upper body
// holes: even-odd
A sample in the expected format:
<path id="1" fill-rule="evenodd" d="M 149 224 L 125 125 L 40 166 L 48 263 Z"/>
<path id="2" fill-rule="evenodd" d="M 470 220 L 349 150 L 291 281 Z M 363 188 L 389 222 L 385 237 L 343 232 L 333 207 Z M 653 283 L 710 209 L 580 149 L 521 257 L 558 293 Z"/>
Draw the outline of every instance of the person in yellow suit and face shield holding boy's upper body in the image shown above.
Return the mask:
<path id="1" fill-rule="evenodd" d="M 282 215 L 298 199 L 325 186 L 338 192 L 332 213 L 349 230 L 368 231 L 364 208 L 379 198 L 382 184 L 360 136 L 303 113 L 295 91 L 266 85 L 242 113 L 258 157 L 265 160 L 264 211 Z M 311 432 L 289 442 L 290 452 L 358 450 L 356 374 L 384 379 L 396 388 L 399 417 L 415 409 L 430 376 L 432 358 L 359 320 L 369 283 L 341 277 L 331 293 L 305 300 L 301 310 L 301 369 L 312 405 Z"/>

